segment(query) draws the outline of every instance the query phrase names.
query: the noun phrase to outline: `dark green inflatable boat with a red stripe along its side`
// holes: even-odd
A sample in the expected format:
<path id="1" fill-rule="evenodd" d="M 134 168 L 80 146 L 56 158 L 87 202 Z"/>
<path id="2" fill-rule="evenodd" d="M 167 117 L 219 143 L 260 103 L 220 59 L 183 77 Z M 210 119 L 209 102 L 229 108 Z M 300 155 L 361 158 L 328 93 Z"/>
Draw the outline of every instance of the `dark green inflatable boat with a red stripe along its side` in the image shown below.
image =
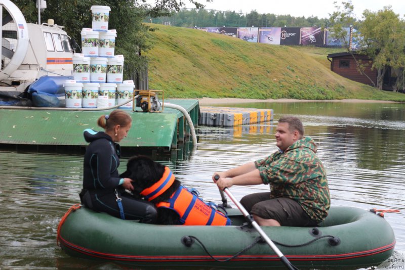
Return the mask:
<path id="1" fill-rule="evenodd" d="M 62 218 L 57 239 L 71 256 L 133 266 L 283 266 L 238 209 L 227 211 L 232 226 L 165 226 L 122 220 L 76 205 Z M 392 228 L 381 213 L 353 207 L 331 207 L 317 228 L 261 228 L 298 268 L 379 265 L 395 246 Z"/>

